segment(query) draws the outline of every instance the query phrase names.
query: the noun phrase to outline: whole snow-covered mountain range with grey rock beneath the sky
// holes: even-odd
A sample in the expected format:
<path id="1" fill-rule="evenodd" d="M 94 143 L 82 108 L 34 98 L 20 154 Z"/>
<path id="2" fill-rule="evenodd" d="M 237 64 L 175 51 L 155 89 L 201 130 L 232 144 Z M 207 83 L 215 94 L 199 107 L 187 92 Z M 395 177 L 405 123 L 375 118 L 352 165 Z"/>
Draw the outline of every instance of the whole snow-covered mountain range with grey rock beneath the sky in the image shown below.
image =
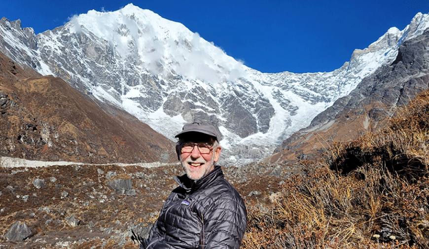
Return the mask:
<path id="1" fill-rule="evenodd" d="M 224 135 L 223 163 L 244 164 L 271 154 L 428 27 L 429 15 L 418 13 L 404 30 L 389 29 L 335 71 L 262 73 L 182 24 L 128 4 L 90 10 L 37 35 L 3 18 L 0 51 L 125 109 L 172 140 L 185 122 L 215 122 Z"/>

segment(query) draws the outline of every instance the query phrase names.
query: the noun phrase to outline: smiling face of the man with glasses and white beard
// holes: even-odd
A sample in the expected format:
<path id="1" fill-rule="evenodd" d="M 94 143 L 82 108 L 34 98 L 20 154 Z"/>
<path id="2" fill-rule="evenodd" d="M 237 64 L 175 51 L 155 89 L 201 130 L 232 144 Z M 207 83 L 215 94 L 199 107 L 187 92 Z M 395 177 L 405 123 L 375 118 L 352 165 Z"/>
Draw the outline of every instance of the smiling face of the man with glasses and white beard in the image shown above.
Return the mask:
<path id="1" fill-rule="evenodd" d="M 210 137 L 199 135 L 196 133 L 194 136 L 187 137 L 183 142 L 206 142 L 213 144 Z M 186 172 L 188 178 L 198 180 L 209 174 L 214 169 L 214 162 L 219 160 L 220 146 L 216 146 L 208 154 L 201 154 L 198 146 L 195 145 L 190 152 L 180 153 L 180 164 Z"/>

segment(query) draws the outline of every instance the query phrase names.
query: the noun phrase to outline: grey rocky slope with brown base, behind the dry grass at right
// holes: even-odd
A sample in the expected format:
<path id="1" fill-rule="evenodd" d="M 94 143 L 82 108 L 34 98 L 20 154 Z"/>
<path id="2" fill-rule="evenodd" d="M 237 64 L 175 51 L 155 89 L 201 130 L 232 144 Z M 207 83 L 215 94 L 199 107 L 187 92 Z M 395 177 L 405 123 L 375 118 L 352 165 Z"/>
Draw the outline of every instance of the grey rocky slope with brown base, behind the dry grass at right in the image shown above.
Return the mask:
<path id="1" fill-rule="evenodd" d="M 285 140 L 270 161 L 306 158 L 334 141 L 349 141 L 368 131 L 382 128 L 397 107 L 407 105 L 429 88 L 429 29 L 405 41 L 396 59 L 364 78 L 348 96 Z"/>

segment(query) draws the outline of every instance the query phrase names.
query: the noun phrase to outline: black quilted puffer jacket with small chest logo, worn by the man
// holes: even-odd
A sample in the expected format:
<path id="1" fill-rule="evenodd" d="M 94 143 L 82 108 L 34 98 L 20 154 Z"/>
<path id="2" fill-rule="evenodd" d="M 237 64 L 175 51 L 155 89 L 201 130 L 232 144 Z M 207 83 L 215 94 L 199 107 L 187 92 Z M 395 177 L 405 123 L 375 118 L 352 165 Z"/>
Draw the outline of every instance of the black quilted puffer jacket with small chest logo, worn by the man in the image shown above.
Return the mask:
<path id="1" fill-rule="evenodd" d="M 238 249 L 246 230 L 243 200 L 223 178 L 220 166 L 193 181 L 176 177 L 179 187 L 165 201 L 146 249 Z"/>

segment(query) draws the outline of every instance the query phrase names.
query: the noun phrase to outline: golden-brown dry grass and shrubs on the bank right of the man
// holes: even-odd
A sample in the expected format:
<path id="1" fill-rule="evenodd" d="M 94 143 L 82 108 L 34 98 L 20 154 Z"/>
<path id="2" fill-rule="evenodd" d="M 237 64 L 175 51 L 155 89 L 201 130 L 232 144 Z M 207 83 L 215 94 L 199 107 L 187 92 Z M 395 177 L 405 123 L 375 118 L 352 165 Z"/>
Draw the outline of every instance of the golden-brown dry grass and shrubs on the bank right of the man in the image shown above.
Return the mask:
<path id="1" fill-rule="evenodd" d="M 323 167 L 248 203 L 244 249 L 429 248 L 429 92 L 377 134 L 337 143 Z"/>

